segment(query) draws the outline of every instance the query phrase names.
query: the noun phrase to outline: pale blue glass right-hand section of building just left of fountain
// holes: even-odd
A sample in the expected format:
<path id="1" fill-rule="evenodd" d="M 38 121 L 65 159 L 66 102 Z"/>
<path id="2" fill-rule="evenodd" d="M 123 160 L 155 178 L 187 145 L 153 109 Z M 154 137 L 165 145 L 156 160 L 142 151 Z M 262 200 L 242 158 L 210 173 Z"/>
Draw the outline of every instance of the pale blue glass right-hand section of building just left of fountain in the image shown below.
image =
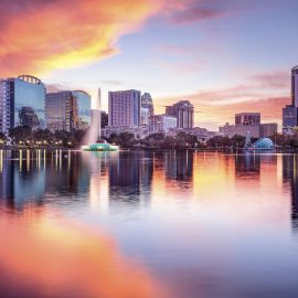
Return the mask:
<path id="1" fill-rule="evenodd" d="M 72 95 L 77 103 L 76 129 L 86 130 L 91 126 L 91 95 L 84 91 L 73 91 Z"/>

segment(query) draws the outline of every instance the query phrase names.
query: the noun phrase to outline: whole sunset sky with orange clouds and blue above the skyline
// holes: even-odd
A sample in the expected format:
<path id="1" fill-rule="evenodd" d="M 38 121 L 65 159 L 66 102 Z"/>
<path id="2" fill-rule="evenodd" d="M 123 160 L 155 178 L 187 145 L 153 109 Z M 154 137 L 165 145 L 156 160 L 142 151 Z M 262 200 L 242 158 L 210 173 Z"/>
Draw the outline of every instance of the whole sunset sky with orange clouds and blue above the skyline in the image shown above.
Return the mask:
<path id="1" fill-rule="evenodd" d="M 49 91 L 149 92 L 157 113 L 189 99 L 216 130 L 237 111 L 281 123 L 298 64 L 297 0 L 0 0 L 0 77 Z"/>

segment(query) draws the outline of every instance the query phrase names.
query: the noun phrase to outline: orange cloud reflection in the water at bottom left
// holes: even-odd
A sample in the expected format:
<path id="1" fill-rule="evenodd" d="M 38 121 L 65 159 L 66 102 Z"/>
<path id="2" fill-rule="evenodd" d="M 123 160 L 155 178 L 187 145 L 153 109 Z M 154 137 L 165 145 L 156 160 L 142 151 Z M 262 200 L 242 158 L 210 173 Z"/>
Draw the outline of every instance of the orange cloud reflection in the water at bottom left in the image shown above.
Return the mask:
<path id="1" fill-rule="evenodd" d="M 168 297 L 107 235 L 47 215 L 1 215 L 1 297 Z"/>

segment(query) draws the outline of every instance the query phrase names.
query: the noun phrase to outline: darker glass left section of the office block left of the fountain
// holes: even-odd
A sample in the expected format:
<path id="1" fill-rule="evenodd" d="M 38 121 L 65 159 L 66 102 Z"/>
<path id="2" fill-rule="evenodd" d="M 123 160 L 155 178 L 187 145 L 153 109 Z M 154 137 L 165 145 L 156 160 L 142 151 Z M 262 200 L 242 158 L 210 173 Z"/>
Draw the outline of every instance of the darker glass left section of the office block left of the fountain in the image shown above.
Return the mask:
<path id="1" fill-rule="evenodd" d="M 72 131 L 77 128 L 77 98 L 72 92 L 47 93 L 45 96 L 45 119 L 52 131 Z"/>

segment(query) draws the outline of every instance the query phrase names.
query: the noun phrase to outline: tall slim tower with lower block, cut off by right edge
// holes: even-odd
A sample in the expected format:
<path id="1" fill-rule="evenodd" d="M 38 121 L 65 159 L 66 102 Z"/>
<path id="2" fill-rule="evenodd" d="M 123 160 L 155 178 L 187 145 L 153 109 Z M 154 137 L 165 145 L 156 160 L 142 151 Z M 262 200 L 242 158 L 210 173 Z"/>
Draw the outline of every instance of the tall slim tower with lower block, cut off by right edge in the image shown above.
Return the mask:
<path id="1" fill-rule="evenodd" d="M 298 126 L 298 66 L 291 68 L 291 104 L 283 108 L 283 132 L 291 134 Z"/>

